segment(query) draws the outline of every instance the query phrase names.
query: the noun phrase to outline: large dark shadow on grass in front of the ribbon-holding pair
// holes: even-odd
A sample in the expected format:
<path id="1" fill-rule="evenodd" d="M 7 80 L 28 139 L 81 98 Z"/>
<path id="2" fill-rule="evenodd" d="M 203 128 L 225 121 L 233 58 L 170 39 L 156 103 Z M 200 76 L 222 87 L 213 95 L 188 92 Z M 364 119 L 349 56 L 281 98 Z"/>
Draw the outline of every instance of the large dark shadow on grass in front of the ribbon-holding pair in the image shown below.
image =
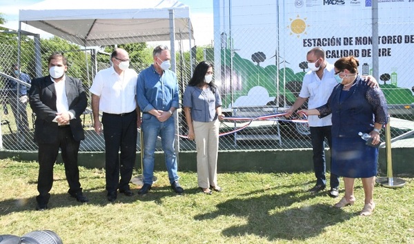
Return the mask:
<path id="1" fill-rule="evenodd" d="M 222 234 L 230 237 L 253 234 L 268 238 L 269 241 L 280 238 L 293 241 L 318 236 L 324 232 L 324 228 L 355 216 L 354 213 L 322 203 L 289 207 L 314 196 L 292 191 L 248 199 L 231 199 L 219 203 L 216 206 L 217 211 L 195 216 L 195 219 L 210 220 L 224 215 L 242 217 L 246 218 L 247 223 L 228 227 Z"/>

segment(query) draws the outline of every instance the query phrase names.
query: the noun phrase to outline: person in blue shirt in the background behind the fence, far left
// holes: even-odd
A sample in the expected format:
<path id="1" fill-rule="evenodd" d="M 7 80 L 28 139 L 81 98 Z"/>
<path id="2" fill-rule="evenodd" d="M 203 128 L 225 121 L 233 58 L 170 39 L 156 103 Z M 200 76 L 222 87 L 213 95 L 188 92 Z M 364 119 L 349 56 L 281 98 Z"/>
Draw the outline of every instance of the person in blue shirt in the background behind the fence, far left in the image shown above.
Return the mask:
<path id="1" fill-rule="evenodd" d="M 12 77 L 19 79 L 27 84 L 31 83 L 28 74 L 20 71 L 17 63 L 12 64 Z M 28 105 L 28 88 L 23 83 L 18 83 L 12 79 L 8 80 L 8 103 L 12 108 L 14 120 L 16 121 L 17 134 L 19 143 L 24 143 L 24 135 L 29 132 L 28 113 L 26 106 Z"/>

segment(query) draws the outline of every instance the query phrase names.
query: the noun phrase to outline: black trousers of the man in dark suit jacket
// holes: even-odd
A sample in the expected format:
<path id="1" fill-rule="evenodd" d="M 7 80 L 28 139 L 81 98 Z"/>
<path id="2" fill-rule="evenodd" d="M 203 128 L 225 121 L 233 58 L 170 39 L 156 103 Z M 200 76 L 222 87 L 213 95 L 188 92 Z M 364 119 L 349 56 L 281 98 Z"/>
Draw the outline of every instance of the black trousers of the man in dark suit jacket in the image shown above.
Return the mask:
<path id="1" fill-rule="evenodd" d="M 37 181 L 39 196 L 36 198 L 38 203 L 46 204 L 50 198 L 49 192 L 53 185 L 53 165 L 55 165 L 57 154 L 59 154 L 59 148 L 65 165 L 69 192 L 75 194 L 82 191 L 77 164 L 80 142 L 73 139 L 69 126 L 59 128 L 58 133 L 57 143 L 39 143 L 39 178 Z"/>

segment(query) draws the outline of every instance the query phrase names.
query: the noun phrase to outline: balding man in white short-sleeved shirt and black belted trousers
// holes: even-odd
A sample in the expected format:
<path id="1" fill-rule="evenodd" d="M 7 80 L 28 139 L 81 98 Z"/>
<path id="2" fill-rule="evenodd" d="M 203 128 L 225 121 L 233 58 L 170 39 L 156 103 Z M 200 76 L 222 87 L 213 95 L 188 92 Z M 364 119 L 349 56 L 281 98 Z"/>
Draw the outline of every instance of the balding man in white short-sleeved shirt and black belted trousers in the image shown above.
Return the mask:
<path id="1" fill-rule="evenodd" d="M 112 202 L 117 199 L 118 189 L 126 196 L 133 195 L 129 183 L 135 165 L 141 115 L 135 101 L 137 72 L 129 68 L 128 52 L 117 48 L 110 59 L 112 67 L 97 73 L 90 92 L 93 127 L 98 134 L 103 130 L 105 139 L 106 190 L 108 201 Z"/>

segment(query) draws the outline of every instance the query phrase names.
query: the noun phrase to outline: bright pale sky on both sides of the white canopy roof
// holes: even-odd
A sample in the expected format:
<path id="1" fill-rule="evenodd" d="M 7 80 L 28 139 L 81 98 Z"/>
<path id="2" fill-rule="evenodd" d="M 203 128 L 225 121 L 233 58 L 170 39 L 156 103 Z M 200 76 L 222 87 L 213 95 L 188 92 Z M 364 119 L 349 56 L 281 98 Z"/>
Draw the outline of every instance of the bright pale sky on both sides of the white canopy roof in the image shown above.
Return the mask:
<path id="1" fill-rule="evenodd" d="M 6 26 L 17 30 L 19 28 L 19 9 L 40 1 L 43 0 L 0 0 L 0 12 L 7 21 Z M 182 0 L 180 2 L 190 7 L 195 44 L 210 44 L 211 39 L 213 39 L 213 0 Z M 28 26 L 22 26 L 22 29 L 29 32 L 38 32 Z"/>

